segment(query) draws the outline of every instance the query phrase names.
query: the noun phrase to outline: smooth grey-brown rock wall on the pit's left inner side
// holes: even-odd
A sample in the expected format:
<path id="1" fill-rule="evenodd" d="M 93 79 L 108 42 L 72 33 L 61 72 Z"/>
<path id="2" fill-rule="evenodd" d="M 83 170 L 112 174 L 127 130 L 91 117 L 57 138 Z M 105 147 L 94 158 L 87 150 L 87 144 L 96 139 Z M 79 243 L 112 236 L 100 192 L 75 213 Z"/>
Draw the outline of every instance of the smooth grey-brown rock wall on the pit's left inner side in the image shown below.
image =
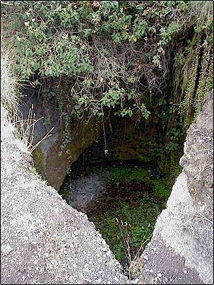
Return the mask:
<path id="1" fill-rule="evenodd" d="M 41 141 L 34 152 L 35 166 L 42 174 L 44 180 L 49 182 L 56 190 L 59 190 L 71 163 L 77 160 L 85 147 L 95 141 L 100 129 L 99 122 L 91 121 L 83 124 L 80 121 L 73 121 L 69 128 L 69 141 L 61 151 L 64 136 L 64 116 L 59 114 L 57 103 L 37 97 L 34 93 L 27 97 L 25 103 L 20 107 L 23 116 L 28 118 L 29 108 L 33 105 L 35 119 L 34 144 L 41 141 L 49 130 L 52 136 Z M 40 118 L 44 119 L 40 120 Z M 61 151 L 61 155 L 59 152 Z"/>

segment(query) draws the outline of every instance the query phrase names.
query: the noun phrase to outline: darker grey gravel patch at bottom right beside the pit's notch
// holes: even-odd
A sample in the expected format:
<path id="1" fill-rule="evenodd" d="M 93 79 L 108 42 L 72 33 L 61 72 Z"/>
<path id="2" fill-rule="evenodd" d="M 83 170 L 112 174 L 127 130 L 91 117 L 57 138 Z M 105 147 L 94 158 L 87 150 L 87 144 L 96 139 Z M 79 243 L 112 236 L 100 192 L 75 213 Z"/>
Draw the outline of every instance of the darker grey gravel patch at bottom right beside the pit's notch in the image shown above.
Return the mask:
<path id="1" fill-rule="evenodd" d="M 138 284 L 203 284 L 197 272 L 185 265 L 184 257 L 167 247 L 160 236 L 153 238 L 145 252 Z"/>

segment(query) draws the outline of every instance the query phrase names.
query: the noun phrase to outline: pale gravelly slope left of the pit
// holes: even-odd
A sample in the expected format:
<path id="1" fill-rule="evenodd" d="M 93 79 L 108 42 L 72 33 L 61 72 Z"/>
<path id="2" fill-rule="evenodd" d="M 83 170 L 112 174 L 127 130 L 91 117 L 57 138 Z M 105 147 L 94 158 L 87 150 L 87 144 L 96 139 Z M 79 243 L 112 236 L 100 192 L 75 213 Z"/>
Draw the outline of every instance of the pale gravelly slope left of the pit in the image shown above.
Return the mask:
<path id="1" fill-rule="evenodd" d="M 93 223 L 31 164 L 1 108 L 1 284 L 129 284 Z"/>

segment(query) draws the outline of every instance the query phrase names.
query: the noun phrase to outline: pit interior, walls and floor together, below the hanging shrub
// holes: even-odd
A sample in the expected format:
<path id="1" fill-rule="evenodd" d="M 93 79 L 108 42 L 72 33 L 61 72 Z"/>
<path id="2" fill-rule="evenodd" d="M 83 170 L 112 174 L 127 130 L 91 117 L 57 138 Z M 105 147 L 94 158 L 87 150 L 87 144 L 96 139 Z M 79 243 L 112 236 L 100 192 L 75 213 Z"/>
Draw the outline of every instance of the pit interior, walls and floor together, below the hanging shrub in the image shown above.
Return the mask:
<path id="1" fill-rule="evenodd" d="M 55 127 L 53 136 L 32 153 L 38 172 L 53 187 L 52 178 L 54 182 L 60 180 L 60 189 L 55 189 L 71 207 L 87 214 L 124 267 L 124 273 L 130 274 L 131 262 L 137 260 L 150 241 L 157 216 L 165 209 L 174 178 L 181 171 L 184 133 L 179 132 L 179 116 L 174 115 L 170 131 L 165 117 L 157 111 L 148 120 L 138 120 L 134 115 L 119 117 L 107 110 L 104 124 L 98 120 L 97 124 L 78 124 L 73 120 L 69 126 L 70 145 L 61 158 L 64 118 L 57 114 L 56 103 L 37 93 L 25 98 L 25 117 L 32 103 L 37 117 L 46 119 L 35 124 L 35 143 Z M 56 168 L 63 168 L 69 156 L 69 168 L 59 178 Z"/>

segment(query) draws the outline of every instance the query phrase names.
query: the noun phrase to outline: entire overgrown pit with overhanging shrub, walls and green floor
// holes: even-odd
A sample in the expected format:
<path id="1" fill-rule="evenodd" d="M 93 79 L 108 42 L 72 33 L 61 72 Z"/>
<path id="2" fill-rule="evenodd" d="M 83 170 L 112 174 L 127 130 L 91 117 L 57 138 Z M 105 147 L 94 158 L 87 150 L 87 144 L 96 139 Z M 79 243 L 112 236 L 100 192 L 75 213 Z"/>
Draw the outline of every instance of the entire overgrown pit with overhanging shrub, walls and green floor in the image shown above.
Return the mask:
<path id="1" fill-rule="evenodd" d="M 186 130 L 213 88 L 212 8 L 21 2 L 3 6 L 32 172 L 88 215 L 126 270 L 166 207 Z"/>

